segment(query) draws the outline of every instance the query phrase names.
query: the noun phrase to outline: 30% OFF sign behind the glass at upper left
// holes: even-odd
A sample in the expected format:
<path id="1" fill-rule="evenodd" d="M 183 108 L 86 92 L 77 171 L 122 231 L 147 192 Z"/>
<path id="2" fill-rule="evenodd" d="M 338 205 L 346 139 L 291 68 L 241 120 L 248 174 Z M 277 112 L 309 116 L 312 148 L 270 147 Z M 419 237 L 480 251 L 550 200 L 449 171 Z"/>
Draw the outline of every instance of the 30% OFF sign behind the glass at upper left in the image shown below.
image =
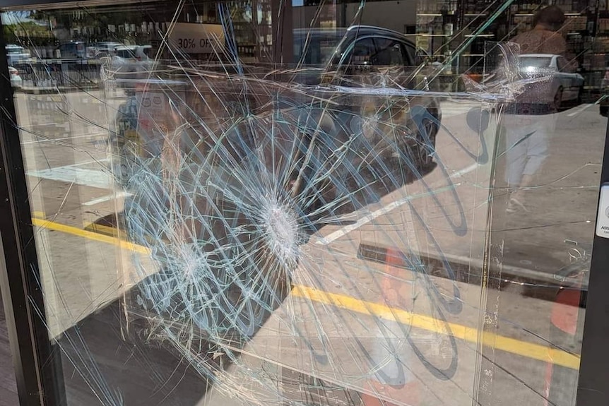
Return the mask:
<path id="1" fill-rule="evenodd" d="M 167 27 L 171 27 L 167 23 Z M 213 54 L 224 47 L 224 30 L 220 24 L 175 23 L 170 42 L 184 54 Z"/>

